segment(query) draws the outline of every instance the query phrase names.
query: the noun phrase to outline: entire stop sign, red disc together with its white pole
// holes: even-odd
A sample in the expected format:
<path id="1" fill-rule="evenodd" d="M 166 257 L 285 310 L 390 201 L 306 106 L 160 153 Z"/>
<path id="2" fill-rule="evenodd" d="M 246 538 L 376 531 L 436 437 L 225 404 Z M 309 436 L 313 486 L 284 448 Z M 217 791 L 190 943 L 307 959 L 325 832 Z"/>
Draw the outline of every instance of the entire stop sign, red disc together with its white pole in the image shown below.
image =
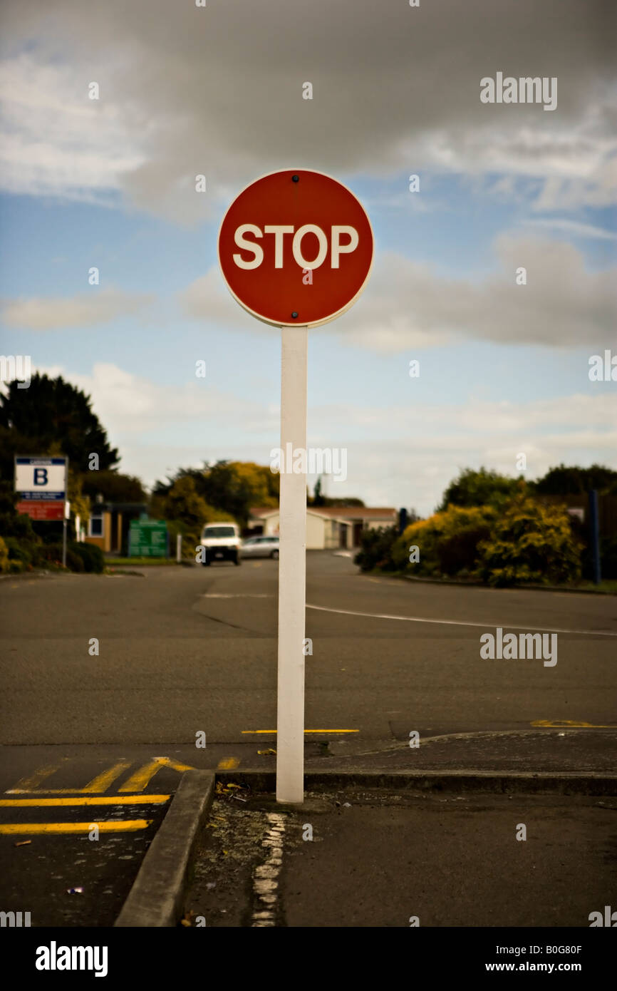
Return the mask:
<path id="1" fill-rule="evenodd" d="M 360 296 L 372 265 L 372 230 L 347 186 L 323 172 L 287 168 L 263 175 L 236 197 L 221 224 L 218 254 L 234 298 L 258 320 L 281 328 L 285 457 L 279 467 L 276 799 L 299 804 L 304 801 L 308 328 L 341 316 Z"/>

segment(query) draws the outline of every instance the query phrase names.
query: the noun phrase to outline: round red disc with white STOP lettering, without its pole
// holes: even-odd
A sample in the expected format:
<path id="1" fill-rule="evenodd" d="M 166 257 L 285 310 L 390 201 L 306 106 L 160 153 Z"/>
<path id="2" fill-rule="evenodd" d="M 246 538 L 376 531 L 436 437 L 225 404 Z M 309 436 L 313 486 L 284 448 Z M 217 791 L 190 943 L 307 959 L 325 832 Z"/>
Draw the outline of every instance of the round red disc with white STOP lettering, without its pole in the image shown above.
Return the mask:
<path id="1" fill-rule="evenodd" d="M 316 327 L 358 298 L 372 263 L 370 222 L 347 186 L 286 168 L 247 186 L 219 231 L 219 263 L 238 302 L 277 327 Z"/>

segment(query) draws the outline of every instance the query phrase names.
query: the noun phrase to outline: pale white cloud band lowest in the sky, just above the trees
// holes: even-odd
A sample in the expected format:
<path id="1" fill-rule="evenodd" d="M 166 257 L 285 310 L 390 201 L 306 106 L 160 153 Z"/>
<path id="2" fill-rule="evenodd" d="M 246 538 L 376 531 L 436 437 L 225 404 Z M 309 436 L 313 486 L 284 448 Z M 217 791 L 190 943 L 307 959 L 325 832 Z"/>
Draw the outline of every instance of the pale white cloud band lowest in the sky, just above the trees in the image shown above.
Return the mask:
<path id="1" fill-rule="evenodd" d="M 207 379 L 158 385 L 103 363 L 89 375 L 57 367 L 38 371 L 62 375 L 92 396 L 112 446 L 120 449 L 121 470 L 149 485 L 206 459 L 268 464 L 270 449 L 278 445 L 275 406 L 222 391 Z M 413 505 L 428 513 L 462 468 L 484 465 L 516 476 L 520 452 L 527 456 L 524 474 L 530 479 L 561 462 L 598 461 L 617 469 L 615 424 L 617 394 L 609 391 L 529 402 L 315 405 L 309 408 L 307 443 L 348 450 L 348 480 L 328 480 L 328 495 L 358 495 L 367 504 Z M 359 426 L 361 440 L 354 439 Z"/>

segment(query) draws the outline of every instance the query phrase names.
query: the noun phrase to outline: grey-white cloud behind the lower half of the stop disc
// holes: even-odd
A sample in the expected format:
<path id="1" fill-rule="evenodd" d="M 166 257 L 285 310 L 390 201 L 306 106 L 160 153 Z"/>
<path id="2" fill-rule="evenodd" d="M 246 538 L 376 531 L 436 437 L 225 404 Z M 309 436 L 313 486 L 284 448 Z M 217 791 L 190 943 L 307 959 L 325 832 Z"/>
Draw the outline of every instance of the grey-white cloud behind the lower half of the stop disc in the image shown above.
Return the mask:
<path id="1" fill-rule="evenodd" d="M 590 273 L 562 241 L 502 235 L 498 269 L 482 281 L 438 275 L 434 268 L 382 252 L 360 300 L 340 317 L 342 340 L 381 352 L 437 347 L 463 338 L 502 344 L 600 347 L 614 342 L 615 271 Z M 527 284 L 516 271 L 527 270 Z M 212 269 L 180 293 L 195 319 L 257 331 Z M 314 333 L 332 333 L 328 325 Z"/>

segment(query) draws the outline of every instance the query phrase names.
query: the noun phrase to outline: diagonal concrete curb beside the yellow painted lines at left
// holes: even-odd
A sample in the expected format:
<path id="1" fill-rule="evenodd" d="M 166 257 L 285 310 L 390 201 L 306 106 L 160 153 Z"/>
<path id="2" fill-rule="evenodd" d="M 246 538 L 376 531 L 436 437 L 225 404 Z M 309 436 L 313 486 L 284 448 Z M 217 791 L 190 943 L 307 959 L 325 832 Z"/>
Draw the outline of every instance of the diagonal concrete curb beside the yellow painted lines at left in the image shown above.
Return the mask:
<path id="1" fill-rule="evenodd" d="M 188 869 L 214 797 L 212 771 L 185 771 L 116 927 L 177 926 L 184 906 Z"/>

